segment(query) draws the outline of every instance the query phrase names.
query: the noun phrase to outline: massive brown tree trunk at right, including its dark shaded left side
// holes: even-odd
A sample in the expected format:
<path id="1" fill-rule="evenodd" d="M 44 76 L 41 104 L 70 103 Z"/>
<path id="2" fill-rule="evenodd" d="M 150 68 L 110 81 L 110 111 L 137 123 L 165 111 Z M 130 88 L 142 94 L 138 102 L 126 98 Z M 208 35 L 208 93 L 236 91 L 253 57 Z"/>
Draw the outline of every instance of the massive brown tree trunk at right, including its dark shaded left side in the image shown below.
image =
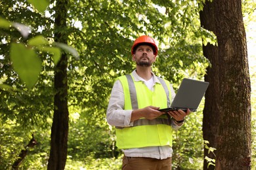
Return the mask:
<path id="1" fill-rule="evenodd" d="M 251 169 L 251 89 L 241 5 L 238 0 L 207 1 L 200 12 L 202 27 L 213 31 L 218 42 L 203 46 L 211 62 L 205 76 L 210 86 L 205 93 L 203 138 L 217 148 L 216 169 Z"/>

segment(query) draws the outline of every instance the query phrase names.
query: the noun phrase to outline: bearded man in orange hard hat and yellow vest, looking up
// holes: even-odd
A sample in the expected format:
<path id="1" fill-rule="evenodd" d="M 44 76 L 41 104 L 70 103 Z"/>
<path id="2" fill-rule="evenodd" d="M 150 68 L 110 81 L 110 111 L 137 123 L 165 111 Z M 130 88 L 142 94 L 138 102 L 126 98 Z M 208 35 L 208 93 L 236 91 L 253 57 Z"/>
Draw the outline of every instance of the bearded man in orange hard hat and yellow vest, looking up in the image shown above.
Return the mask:
<path id="1" fill-rule="evenodd" d="M 154 39 L 137 38 L 131 53 L 136 69 L 117 78 L 106 113 L 124 152 L 122 169 L 171 169 L 172 130 L 182 126 L 190 110 L 158 110 L 170 106 L 175 92 L 170 82 L 152 73 L 158 55 Z"/>

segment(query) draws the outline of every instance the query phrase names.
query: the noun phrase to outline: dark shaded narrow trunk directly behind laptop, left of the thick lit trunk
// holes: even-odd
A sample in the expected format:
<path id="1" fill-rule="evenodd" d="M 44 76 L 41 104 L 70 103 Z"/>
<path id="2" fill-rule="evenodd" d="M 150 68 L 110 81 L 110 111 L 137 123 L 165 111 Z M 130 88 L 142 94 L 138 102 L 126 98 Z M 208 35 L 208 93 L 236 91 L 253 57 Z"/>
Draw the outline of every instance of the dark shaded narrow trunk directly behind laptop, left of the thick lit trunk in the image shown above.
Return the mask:
<path id="1" fill-rule="evenodd" d="M 213 4 L 209 5 L 209 1 L 206 1 L 203 11 L 200 12 L 200 20 L 202 27 L 213 31 L 216 34 L 215 14 Z M 211 62 L 211 67 L 207 68 L 207 74 L 205 75 L 205 81 L 210 82 L 207 91 L 205 92 L 205 107 L 203 109 L 203 139 L 209 141 L 209 146 L 217 148 L 217 130 L 219 127 L 219 103 L 220 101 L 220 89 L 219 78 L 216 78 L 219 73 L 219 57 L 218 47 L 211 44 L 203 46 L 203 55 Z M 214 76 L 215 75 L 215 76 Z M 204 150 L 204 156 L 214 158 L 213 153 L 208 154 L 208 150 Z M 204 169 L 207 169 L 207 162 L 203 163 Z M 206 167 L 206 168 L 205 168 Z M 209 166 L 209 169 L 215 169 L 214 166 Z"/>

